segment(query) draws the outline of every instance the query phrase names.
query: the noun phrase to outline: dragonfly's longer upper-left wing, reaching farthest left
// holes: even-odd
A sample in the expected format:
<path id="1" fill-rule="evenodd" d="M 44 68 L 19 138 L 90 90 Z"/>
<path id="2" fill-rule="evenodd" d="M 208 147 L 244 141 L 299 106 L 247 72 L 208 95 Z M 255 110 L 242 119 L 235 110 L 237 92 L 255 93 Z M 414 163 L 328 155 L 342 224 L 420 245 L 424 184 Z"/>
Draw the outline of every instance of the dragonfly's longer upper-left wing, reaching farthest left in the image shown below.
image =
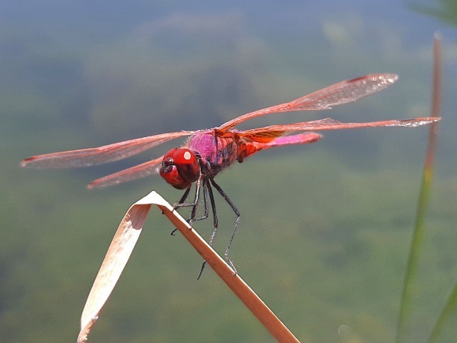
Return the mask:
<path id="1" fill-rule="evenodd" d="M 121 141 L 119 143 L 99 146 L 98 148 L 44 154 L 24 159 L 24 161 L 21 162 L 21 166 L 33 168 L 74 168 L 79 166 L 94 166 L 126 159 L 127 157 L 139 154 L 171 139 L 189 136 L 193 133 L 194 131 L 180 131 L 168 134 L 156 134 L 155 136 Z"/>

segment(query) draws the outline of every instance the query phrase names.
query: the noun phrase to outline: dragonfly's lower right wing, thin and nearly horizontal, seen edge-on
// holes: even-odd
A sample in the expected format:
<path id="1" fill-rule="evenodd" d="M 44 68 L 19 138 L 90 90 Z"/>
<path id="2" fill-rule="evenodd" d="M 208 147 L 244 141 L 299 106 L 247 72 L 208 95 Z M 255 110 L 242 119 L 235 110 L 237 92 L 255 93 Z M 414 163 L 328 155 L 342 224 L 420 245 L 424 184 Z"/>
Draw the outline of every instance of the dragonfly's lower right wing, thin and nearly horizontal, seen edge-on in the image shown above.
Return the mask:
<path id="1" fill-rule="evenodd" d="M 437 117 L 413 118 L 413 119 L 394 119 L 384 121 L 368 121 L 366 123 L 342 123 L 341 121 L 331 118 L 319 119 L 314 121 L 304 121 L 296 124 L 271 125 L 258 129 L 251 129 L 240 132 L 240 136 L 251 136 L 263 134 L 264 132 L 284 132 L 284 131 L 326 131 L 336 129 L 356 129 L 359 127 L 378 127 L 378 126 L 403 126 L 418 127 L 428 125 L 441 120 Z"/>

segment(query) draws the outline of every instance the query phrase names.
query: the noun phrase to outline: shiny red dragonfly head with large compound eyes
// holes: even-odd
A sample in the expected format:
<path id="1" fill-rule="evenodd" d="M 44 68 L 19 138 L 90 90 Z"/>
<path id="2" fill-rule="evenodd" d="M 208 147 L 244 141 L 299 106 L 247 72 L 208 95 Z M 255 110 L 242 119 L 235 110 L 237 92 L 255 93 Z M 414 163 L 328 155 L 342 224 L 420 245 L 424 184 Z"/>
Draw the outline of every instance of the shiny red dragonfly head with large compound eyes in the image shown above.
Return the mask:
<path id="1" fill-rule="evenodd" d="M 164 155 L 160 175 L 174 188 L 186 189 L 199 179 L 199 160 L 189 149 L 171 149 Z"/>

